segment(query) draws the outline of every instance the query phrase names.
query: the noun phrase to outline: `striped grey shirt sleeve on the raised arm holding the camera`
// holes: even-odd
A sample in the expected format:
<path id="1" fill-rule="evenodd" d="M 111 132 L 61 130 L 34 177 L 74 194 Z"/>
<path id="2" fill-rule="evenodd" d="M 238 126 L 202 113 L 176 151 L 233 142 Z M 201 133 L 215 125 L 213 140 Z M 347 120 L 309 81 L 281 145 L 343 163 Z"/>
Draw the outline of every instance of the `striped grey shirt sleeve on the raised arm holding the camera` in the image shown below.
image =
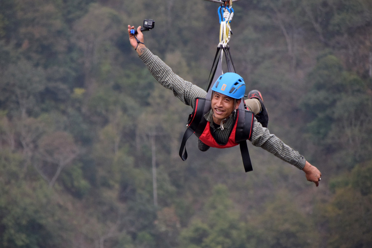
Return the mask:
<path id="1" fill-rule="evenodd" d="M 151 75 L 153 75 L 162 86 L 172 90 L 174 96 L 186 105 L 194 108 L 195 98 L 203 98 L 206 96 L 205 90 L 173 73 L 172 69 L 149 49 L 146 49 L 140 55 L 140 58 L 145 63 Z"/>

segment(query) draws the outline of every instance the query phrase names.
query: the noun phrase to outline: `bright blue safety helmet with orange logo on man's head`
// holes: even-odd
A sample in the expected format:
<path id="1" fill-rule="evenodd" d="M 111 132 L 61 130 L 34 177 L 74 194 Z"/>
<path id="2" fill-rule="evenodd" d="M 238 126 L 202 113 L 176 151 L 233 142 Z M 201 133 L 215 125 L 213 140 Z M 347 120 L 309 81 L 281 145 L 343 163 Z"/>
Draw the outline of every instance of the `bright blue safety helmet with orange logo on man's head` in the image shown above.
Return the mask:
<path id="1" fill-rule="evenodd" d="M 244 97 L 244 93 L 246 93 L 246 84 L 240 75 L 236 73 L 225 73 L 219 76 L 212 90 L 234 99 L 241 99 Z"/>

